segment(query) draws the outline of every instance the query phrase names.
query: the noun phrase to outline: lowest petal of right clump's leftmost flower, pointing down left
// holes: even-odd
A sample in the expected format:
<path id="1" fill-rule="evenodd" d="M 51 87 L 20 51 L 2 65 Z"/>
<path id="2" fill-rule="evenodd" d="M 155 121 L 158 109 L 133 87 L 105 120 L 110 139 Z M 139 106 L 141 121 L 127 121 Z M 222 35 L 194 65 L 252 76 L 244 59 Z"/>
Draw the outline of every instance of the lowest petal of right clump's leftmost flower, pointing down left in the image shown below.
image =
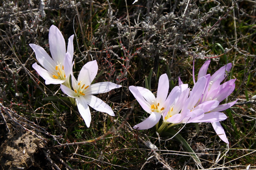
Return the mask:
<path id="1" fill-rule="evenodd" d="M 160 120 L 161 116 L 162 116 L 161 113 L 152 112 L 151 115 L 146 120 L 133 126 L 133 129 L 144 130 L 144 129 L 152 128 Z"/>

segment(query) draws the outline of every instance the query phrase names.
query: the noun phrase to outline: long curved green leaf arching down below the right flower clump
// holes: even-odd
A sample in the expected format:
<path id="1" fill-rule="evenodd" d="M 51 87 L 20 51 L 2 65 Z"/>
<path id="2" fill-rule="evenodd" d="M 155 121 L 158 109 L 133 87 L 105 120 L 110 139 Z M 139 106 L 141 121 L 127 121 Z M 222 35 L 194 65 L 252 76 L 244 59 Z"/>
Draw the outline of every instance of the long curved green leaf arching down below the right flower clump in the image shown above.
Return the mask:
<path id="1" fill-rule="evenodd" d="M 162 132 L 160 134 L 160 136 L 164 136 L 164 137 L 173 137 L 174 139 L 176 139 L 177 141 L 179 141 L 182 146 L 184 148 L 186 148 L 186 150 L 188 152 L 190 152 L 189 154 L 192 156 L 192 158 L 197 161 L 197 162 L 201 162 L 200 159 L 197 157 L 197 155 L 195 154 L 195 152 L 193 151 L 193 149 L 189 146 L 188 142 L 179 134 L 177 133 L 175 130 L 173 129 L 167 129 L 165 132 Z"/>

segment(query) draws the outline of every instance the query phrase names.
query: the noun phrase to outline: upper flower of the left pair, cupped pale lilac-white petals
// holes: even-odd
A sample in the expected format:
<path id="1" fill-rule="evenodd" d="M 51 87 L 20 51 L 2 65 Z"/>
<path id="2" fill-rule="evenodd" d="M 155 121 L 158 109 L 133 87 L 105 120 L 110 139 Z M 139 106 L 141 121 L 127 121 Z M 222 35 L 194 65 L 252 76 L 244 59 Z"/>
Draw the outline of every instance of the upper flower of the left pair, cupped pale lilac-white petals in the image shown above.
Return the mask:
<path id="1" fill-rule="evenodd" d="M 44 48 L 36 45 L 29 44 L 36 54 L 37 61 L 44 67 L 42 68 L 37 63 L 32 67 L 37 73 L 44 78 L 45 84 L 65 84 L 69 85 L 69 75 L 72 71 L 72 60 L 74 55 L 73 47 L 74 35 L 68 39 L 68 49 L 66 52 L 66 43 L 60 30 L 52 25 L 49 30 L 49 46 L 52 58 L 47 54 Z"/>

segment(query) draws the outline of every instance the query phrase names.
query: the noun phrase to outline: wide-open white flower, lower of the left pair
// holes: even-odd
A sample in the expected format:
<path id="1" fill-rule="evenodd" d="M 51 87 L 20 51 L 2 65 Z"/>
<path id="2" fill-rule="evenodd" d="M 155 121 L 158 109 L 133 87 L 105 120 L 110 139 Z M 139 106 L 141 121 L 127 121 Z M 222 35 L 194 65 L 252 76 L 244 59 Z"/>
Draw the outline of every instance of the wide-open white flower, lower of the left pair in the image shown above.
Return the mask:
<path id="1" fill-rule="evenodd" d="M 105 112 L 110 116 L 115 116 L 110 106 L 92 94 L 105 93 L 112 89 L 121 87 L 121 85 L 111 82 L 100 82 L 91 85 L 97 75 L 97 72 L 98 64 L 96 60 L 88 62 L 79 72 L 77 80 L 74 78 L 73 74 L 71 74 L 73 90 L 65 85 L 60 85 L 62 92 L 67 94 L 69 97 L 76 99 L 78 111 L 82 115 L 87 127 L 90 127 L 92 119 L 89 106 L 97 111 Z"/>

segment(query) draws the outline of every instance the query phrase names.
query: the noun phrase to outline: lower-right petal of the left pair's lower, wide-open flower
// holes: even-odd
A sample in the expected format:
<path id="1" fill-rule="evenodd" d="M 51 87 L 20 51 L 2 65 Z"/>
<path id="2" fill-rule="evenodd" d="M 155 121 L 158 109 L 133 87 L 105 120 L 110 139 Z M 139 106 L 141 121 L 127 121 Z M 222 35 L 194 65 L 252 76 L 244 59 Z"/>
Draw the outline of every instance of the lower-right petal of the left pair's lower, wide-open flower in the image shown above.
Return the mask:
<path id="1" fill-rule="evenodd" d="M 107 113 L 110 116 L 115 116 L 111 107 L 108 106 L 104 101 L 100 100 L 98 97 L 95 97 L 93 95 L 85 95 L 84 98 L 87 101 L 88 105 L 95 110 Z"/>

